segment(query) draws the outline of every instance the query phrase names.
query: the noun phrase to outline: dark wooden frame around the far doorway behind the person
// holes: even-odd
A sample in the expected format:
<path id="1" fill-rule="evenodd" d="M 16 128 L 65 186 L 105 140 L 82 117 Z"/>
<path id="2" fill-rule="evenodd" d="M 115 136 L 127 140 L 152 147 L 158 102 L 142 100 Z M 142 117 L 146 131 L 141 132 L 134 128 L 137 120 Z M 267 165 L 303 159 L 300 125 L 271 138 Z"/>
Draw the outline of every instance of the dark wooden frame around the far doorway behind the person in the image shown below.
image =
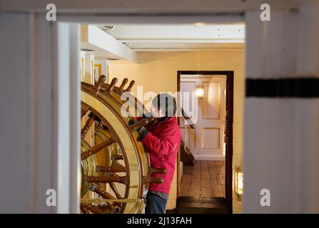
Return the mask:
<path id="1" fill-rule="evenodd" d="M 233 71 L 178 71 L 177 90 L 181 91 L 181 75 L 224 75 L 226 76 L 226 175 L 225 195 L 228 212 L 233 213 Z M 179 125 L 179 119 L 178 119 Z M 178 162 L 179 162 L 178 158 Z M 179 167 L 179 165 L 178 165 Z M 178 169 L 179 173 L 179 169 Z M 179 192 L 178 192 L 179 193 Z M 179 194 L 178 194 L 179 196 Z"/>

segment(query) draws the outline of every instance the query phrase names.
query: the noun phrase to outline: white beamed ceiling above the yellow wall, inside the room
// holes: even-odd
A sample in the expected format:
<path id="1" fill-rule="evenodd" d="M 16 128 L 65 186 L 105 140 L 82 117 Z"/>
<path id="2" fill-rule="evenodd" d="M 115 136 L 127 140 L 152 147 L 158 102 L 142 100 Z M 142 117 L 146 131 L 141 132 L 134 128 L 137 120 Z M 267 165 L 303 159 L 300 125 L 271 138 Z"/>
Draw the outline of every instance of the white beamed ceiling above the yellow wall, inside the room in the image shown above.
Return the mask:
<path id="1" fill-rule="evenodd" d="M 81 50 L 96 57 L 138 62 L 142 53 L 242 49 L 244 24 L 81 25 Z"/>

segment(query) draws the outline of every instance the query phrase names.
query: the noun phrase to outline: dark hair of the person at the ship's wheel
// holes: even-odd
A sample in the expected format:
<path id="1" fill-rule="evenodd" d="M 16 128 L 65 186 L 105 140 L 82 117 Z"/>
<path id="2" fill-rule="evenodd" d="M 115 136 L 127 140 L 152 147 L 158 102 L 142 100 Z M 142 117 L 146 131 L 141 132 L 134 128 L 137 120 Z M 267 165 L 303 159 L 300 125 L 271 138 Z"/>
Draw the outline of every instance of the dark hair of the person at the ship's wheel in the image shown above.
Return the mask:
<path id="1" fill-rule="evenodd" d="M 153 107 L 165 111 L 166 117 L 173 117 L 176 113 L 176 100 L 168 93 L 160 93 L 152 100 Z"/>

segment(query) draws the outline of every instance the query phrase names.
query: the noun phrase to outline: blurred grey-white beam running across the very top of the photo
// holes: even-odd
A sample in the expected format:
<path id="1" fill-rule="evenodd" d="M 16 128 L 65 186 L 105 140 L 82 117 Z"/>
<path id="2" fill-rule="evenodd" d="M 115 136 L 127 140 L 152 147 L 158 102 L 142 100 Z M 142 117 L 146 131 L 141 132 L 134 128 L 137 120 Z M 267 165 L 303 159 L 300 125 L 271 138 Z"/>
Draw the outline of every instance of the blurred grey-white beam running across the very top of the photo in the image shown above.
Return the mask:
<path id="1" fill-rule="evenodd" d="M 271 9 L 297 9 L 300 2 L 311 0 L 268 0 Z M 56 4 L 59 13 L 78 14 L 213 14 L 226 12 L 258 11 L 265 0 L 50 0 Z M 36 11 L 46 12 L 43 0 L 1 0 L 3 11 Z"/>

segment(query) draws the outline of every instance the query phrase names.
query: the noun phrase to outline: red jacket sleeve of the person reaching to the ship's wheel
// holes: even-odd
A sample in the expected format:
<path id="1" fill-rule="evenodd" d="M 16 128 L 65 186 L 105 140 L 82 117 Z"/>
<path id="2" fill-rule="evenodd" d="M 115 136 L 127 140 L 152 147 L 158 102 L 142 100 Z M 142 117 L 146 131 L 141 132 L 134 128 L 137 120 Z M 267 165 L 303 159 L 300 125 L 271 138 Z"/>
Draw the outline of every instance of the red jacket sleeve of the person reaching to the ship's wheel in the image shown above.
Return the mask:
<path id="1" fill-rule="evenodd" d="M 154 152 L 158 155 L 168 155 L 177 149 L 180 141 L 180 137 L 176 137 L 178 134 L 176 130 L 170 130 L 169 132 L 169 134 L 166 133 L 160 138 L 148 132 L 141 142 L 143 142 L 143 145 L 145 145 L 150 152 Z"/>

